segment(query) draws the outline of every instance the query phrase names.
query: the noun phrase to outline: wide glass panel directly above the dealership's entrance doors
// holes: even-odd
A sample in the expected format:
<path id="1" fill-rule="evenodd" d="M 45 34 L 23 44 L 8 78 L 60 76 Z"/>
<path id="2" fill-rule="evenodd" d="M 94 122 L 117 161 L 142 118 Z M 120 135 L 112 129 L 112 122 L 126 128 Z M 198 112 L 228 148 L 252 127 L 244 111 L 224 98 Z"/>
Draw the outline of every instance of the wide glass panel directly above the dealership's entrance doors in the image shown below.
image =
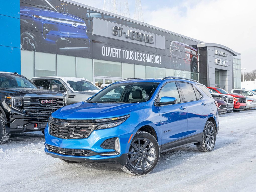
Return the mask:
<path id="1" fill-rule="evenodd" d="M 118 62 L 94 60 L 94 75 L 122 77 L 122 65 Z"/>

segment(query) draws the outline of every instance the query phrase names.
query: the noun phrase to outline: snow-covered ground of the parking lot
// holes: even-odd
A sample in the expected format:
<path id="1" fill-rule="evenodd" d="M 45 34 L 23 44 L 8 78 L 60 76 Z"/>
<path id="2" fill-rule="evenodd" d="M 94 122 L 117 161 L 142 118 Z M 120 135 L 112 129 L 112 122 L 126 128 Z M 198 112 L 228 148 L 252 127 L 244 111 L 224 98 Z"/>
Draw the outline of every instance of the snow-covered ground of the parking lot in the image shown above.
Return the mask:
<path id="1" fill-rule="evenodd" d="M 213 151 L 162 153 L 148 175 L 102 164 L 67 164 L 44 153 L 44 136 L 13 134 L 0 146 L 0 191 L 255 191 L 256 110 L 220 115 Z"/>

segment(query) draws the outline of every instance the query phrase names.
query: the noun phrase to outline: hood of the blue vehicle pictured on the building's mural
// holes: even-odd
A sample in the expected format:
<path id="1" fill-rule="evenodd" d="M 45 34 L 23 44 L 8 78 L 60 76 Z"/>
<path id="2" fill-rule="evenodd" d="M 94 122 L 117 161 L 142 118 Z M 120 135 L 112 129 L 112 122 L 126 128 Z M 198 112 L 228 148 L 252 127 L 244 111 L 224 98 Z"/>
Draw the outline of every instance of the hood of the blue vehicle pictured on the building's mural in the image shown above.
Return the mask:
<path id="1" fill-rule="evenodd" d="M 29 17 L 33 17 L 32 15 L 38 15 L 38 16 L 53 18 L 54 21 L 52 21 L 52 22 L 56 22 L 56 23 L 58 23 L 58 20 L 61 20 L 61 21 L 70 21 L 70 22 L 74 22 L 77 24 L 79 24 L 79 23 L 85 24 L 85 22 L 78 17 L 68 15 L 68 14 L 65 14 L 62 12 L 57 12 L 54 10 L 40 8 L 40 7 L 20 6 L 20 14 L 24 15 L 24 16 L 29 16 Z M 65 24 L 65 23 L 62 23 L 62 24 Z M 71 24 L 66 24 L 66 25 L 71 25 Z M 83 27 L 83 29 L 84 29 L 84 26 L 78 25 L 78 27 L 79 28 Z M 85 27 L 85 28 L 87 28 L 87 27 Z"/>

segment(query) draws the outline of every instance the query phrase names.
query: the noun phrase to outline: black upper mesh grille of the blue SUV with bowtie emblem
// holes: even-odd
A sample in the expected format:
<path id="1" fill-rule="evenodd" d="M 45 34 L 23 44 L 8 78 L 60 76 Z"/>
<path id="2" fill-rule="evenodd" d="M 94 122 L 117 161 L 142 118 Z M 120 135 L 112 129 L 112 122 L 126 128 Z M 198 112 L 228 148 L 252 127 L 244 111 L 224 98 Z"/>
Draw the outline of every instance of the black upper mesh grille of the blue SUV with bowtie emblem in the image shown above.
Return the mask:
<path id="1" fill-rule="evenodd" d="M 50 134 L 62 139 L 87 138 L 96 126 L 93 120 L 49 120 Z"/>

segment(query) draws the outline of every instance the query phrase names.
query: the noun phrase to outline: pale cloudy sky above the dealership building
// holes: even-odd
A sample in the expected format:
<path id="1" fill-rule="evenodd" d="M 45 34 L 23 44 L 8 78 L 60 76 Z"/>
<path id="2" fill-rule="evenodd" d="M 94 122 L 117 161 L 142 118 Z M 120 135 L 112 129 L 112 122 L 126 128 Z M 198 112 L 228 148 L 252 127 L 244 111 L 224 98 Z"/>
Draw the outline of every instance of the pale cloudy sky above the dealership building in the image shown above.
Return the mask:
<path id="1" fill-rule="evenodd" d="M 74 0 L 103 9 L 104 0 Z M 156 4 L 157 3 L 157 4 Z M 133 18 L 135 0 L 128 0 Z M 144 22 L 241 53 L 256 69 L 256 2 L 249 0 L 141 0 Z"/>

